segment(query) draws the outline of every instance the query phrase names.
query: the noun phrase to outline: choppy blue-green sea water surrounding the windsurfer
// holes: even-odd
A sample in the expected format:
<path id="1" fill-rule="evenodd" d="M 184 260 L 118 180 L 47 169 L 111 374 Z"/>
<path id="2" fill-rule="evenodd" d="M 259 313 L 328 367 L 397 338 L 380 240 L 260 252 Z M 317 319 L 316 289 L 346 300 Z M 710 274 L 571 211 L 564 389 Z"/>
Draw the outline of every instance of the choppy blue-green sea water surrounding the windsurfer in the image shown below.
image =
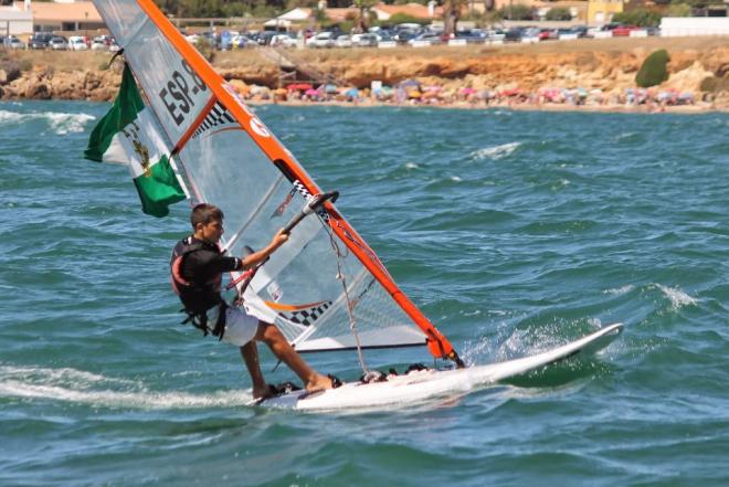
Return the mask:
<path id="1" fill-rule="evenodd" d="M 258 107 L 469 363 L 625 324 L 593 360 L 303 414 L 246 407 L 236 349 L 178 324 L 188 208 L 82 158 L 107 107 L 0 104 L 0 485 L 729 485 L 728 115 Z"/>

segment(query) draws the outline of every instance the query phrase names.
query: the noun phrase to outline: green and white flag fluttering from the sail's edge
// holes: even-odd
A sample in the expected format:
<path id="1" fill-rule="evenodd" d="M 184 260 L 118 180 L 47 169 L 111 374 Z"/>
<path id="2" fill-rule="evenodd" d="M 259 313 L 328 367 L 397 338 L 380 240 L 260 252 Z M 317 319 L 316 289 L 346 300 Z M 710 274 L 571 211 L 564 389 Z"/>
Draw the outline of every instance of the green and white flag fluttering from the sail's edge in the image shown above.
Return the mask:
<path id="1" fill-rule="evenodd" d="M 169 149 L 154 115 L 145 107 L 128 65 L 112 109 L 94 127 L 84 157 L 129 168 L 141 211 L 166 216 L 168 205 L 187 198 L 170 163 Z"/>

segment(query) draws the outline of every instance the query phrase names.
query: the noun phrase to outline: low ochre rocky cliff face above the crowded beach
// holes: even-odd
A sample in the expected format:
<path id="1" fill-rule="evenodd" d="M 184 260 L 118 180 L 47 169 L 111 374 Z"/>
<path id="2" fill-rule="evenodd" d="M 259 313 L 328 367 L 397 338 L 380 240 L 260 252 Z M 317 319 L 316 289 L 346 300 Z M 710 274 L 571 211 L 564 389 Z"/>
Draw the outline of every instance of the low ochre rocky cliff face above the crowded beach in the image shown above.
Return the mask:
<path id="1" fill-rule="evenodd" d="M 608 41 L 608 42 L 606 42 Z M 467 46 L 397 50 L 302 50 L 289 56 L 330 73 L 340 83 L 366 87 L 418 78 L 444 87 L 476 89 L 543 87 L 620 92 L 635 86 L 635 73 L 655 49 L 667 49 L 670 77 L 661 87 L 707 95 L 729 106 L 729 39 L 626 39 L 553 42 L 550 45 Z M 108 54 L 33 52 L 0 55 L 0 97 L 110 100 L 120 78 L 107 68 Z M 9 70 L 9 64 L 14 68 Z M 18 66 L 25 66 L 19 70 Z M 213 65 L 226 80 L 276 87 L 279 70 L 256 50 L 219 53 Z M 706 93 L 710 92 L 710 93 Z"/>

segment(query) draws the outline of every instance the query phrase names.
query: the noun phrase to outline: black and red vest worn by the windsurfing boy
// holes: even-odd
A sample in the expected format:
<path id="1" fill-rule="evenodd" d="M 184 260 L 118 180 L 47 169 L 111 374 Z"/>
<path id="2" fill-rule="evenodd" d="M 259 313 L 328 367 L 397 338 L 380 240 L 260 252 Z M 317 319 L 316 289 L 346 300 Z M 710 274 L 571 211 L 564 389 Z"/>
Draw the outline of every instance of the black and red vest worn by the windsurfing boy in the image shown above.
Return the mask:
<path id="1" fill-rule="evenodd" d="M 218 322 L 214 326 L 213 335 L 222 338 L 222 330 L 225 326 L 225 301 L 220 295 L 222 274 L 218 274 L 213 278 L 205 282 L 187 280 L 182 277 L 182 264 L 184 258 L 199 251 L 215 252 L 221 254 L 218 245 L 209 244 L 192 236 L 182 239 L 175 245 L 172 257 L 170 258 L 170 277 L 172 280 L 172 289 L 180 297 L 188 319 L 183 322 L 191 321 L 197 328 L 203 330 L 208 335 L 208 315 L 210 308 L 220 306 Z"/>

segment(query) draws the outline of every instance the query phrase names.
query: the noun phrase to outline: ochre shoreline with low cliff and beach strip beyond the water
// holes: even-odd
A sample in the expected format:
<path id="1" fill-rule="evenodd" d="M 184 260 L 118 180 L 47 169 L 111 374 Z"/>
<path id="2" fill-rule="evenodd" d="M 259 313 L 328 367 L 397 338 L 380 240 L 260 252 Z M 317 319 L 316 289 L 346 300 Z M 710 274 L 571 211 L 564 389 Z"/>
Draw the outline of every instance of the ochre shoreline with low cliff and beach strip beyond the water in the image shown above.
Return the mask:
<path id="1" fill-rule="evenodd" d="M 656 49 L 669 52 L 669 78 L 641 98 L 634 95 L 637 92 L 635 73 Z M 336 80 L 340 94 L 325 97 L 336 97 L 335 100 L 278 102 L 289 106 L 413 105 L 621 113 L 729 110 L 729 73 L 726 72 L 729 38 L 609 39 L 388 50 L 304 49 L 286 53 L 302 65 Z M 107 52 L 0 49 L 0 99 L 110 102 L 116 97 L 120 82 L 119 66 L 108 67 L 110 59 L 112 54 Z M 261 98 L 274 97 L 281 72 L 277 64 L 266 59 L 264 51 L 216 52 L 212 64 L 246 98 L 246 103 L 273 103 Z M 705 83 L 709 78 L 712 83 Z M 401 103 L 397 104 L 393 96 L 378 100 L 368 95 L 374 82 L 394 87 L 404 80 L 413 80 L 422 86 L 422 100 L 405 99 L 402 103 L 404 98 L 400 96 Z M 316 87 L 317 83 L 311 82 L 311 85 Z M 714 86 L 712 92 L 704 92 L 708 85 Z M 357 105 L 341 96 L 349 88 L 362 92 L 363 99 Z M 439 94 L 426 93 L 429 89 Z M 465 91 L 471 94 L 464 94 Z M 509 94 L 515 92 L 518 92 L 517 96 Z M 684 104 L 686 99 L 678 99 L 679 96 L 688 97 L 691 104 Z M 304 94 L 298 93 L 295 97 L 302 98 Z"/>

